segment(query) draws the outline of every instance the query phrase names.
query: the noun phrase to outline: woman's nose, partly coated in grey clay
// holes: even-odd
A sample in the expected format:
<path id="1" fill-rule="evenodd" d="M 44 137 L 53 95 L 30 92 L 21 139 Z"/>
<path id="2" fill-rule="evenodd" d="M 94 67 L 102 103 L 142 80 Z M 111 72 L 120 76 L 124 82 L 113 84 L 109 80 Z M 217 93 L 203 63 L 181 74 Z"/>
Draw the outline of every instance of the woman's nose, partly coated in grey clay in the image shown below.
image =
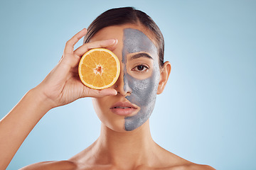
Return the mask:
<path id="1" fill-rule="evenodd" d="M 117 82 L 114 84 L 114 89 L 117 91 L 117 94 L 122 96 L 129 96 L 132 93 L 132 89 L 129 87 L 129 75 L 124 70 L 120 72 Z"/>

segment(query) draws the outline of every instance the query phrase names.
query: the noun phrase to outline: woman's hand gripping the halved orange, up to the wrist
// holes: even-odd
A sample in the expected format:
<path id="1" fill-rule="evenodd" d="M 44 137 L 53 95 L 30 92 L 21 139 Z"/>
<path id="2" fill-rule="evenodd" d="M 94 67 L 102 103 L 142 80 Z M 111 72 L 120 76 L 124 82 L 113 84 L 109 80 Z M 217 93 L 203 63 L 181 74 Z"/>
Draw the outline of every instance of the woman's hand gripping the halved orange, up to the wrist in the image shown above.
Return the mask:
<path id="1" fill-rule="evenodd" d="M 35 88 L 41 92 L 41 95 L 45 95 L 46 98 L 50 99 L 48 100 L 50 101 L 50 108 L 63 106 L 78 98 L 102 97 L 117 94 L 117 91 L 114 89 L 90 89 L 80 81 L 78 64 L 85 52 L 96 47 L 106 47 L 113 50 L 114 46 L 117 45 L 117 40 L 114 39 L 101 40 L 81 45 L 74 51 L 74 45 L 86 33 L 87 30 L 83 29 L 66 42 L 60 62 L 48 74 L 46 79 Z"/>

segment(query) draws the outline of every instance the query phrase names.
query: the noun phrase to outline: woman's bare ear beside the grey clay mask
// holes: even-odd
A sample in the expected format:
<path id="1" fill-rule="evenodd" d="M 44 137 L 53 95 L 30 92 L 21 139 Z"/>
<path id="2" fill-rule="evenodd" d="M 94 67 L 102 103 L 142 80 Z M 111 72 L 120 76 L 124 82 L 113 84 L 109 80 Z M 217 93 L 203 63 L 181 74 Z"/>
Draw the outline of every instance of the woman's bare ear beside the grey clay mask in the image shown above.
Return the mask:
<path id="1" fill-rule="evenodd" d="M 159 80 L 159 86 L 156 94 L 161 94 L 164 91 L 164 87 L 166 86 L 170 73 L 171 73 L 170 62 L 164 62 L 164 67 L 160 69 L 160 80 Z"/>

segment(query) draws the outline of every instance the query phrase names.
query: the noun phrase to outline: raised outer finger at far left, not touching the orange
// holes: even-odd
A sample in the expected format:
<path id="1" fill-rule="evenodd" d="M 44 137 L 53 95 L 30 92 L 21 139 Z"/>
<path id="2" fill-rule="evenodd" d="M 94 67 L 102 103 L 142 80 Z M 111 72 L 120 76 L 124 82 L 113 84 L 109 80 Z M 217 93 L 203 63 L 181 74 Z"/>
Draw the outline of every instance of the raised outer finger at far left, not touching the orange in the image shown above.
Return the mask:
<path id="1" fill-rule="evenodd" d="M 75 44 L 87 33 L 86 28 L 83 28 L 78 33 L 76 33 L 73 38 L 68 40 L 65 44 L 64 53 L 73 54 Z"/>

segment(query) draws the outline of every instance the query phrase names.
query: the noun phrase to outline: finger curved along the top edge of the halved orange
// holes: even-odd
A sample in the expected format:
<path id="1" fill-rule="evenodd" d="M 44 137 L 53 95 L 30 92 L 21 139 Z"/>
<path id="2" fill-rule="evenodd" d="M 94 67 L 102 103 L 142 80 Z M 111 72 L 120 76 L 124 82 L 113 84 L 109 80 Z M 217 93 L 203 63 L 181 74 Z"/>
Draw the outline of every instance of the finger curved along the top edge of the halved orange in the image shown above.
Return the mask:
<path id="1" fill-rule="evenodd" d="M 81 45 L 78 47 L 78 49 L 75 50 L 75 55 L 82 56 L 87 52 L 88 50 L 92 48 L 97 48 L 97 47 L 106 47 L 113 49 L 113 47 L 117 45 L 117 39 L 110 39 L 110 40 L 100 40 L 100 41 L 95 41 L 95 42 L 88 42 L 84 45 Z"/>

